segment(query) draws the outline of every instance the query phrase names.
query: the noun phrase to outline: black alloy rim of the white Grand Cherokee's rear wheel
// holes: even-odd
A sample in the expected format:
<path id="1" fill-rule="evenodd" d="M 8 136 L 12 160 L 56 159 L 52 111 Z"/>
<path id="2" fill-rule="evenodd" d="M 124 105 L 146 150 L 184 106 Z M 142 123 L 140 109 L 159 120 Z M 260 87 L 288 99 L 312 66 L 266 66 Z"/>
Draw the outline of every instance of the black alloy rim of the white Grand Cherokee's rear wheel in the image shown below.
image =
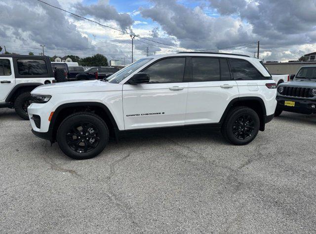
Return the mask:
<path id="1" fill-rule="evenodd" d="M 233 124 L 234 136 L 239 140 L 245 140 L 253 135 L 254 121 L 249 115 L 237 117 Z"/>

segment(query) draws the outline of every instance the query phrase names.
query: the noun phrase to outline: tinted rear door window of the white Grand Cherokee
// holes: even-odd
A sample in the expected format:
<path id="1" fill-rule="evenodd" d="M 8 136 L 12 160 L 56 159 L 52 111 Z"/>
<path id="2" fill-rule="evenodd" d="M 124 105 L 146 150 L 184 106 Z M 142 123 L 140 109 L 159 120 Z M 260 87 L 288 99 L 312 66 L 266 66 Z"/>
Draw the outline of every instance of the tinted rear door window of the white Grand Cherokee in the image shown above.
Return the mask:
<path id="1" fill-rule="evenodd" d="M 193 57 L 193 82 L 219 81 L 220 67 L 218 58 Z"/>

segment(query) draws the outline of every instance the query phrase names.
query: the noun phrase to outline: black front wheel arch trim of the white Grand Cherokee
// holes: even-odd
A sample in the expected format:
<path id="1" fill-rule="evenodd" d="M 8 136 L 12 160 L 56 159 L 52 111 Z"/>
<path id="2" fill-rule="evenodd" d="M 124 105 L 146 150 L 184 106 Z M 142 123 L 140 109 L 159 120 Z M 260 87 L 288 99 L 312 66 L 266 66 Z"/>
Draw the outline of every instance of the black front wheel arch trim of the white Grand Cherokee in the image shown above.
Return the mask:
<path id="1" fill-rule="evenodd" d="M 62 104 L 54 111 L 49 124 L 51 141 L 56 141 L 56 134 L 63 119 L 76 112 L 93 112 L 101 117 L 109 127 L 110 134 L 117 138 L 118 125 L 109 108 L 99 102 L 75 102 Z"/>

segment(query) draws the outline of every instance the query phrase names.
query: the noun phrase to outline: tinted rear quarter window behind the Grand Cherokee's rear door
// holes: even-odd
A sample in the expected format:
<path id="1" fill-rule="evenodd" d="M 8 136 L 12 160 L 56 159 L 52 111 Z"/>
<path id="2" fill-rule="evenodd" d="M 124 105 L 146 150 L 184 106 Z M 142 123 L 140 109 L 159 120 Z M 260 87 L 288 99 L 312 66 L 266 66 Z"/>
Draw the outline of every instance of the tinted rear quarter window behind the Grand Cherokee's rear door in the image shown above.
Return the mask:
<path id="1" fill-rule="evenodd" d="M 248 61 L 241 59 L 230 59 L 229 61 L 234 79 L 263 79 L 257 69 L 255 69 Z"/>

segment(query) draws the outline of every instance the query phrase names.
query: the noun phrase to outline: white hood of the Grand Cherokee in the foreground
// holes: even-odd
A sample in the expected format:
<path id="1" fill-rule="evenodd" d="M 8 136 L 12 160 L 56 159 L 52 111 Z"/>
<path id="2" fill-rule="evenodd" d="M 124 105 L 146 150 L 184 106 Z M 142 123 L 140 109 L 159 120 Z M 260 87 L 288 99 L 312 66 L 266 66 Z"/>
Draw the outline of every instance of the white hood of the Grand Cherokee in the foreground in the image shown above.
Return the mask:
<path id="1" fill-rule="evenodd" d="M 51 95 L 56 93 L 89 93 L 111 90 L 115 91 L 119 89 L 119 86 L 120 84 L 104 82 L 101 80 L 66 81 L 40 85 L 31 93 Z"/>

